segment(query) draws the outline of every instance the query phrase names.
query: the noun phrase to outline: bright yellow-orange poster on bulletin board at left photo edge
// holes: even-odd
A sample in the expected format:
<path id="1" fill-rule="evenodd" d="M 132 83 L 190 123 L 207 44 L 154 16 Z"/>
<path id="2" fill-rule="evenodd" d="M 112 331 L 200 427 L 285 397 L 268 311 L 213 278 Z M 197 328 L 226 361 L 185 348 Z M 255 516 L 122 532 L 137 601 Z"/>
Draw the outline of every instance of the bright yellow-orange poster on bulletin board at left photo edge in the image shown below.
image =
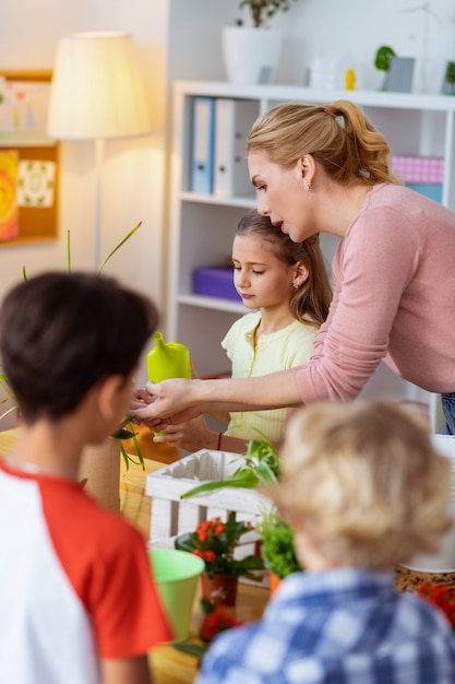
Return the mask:
<path id="1" fill-rule="evenodd" d="M 19 153 L 0 150 L 0 240 L 19 236 Z"/>

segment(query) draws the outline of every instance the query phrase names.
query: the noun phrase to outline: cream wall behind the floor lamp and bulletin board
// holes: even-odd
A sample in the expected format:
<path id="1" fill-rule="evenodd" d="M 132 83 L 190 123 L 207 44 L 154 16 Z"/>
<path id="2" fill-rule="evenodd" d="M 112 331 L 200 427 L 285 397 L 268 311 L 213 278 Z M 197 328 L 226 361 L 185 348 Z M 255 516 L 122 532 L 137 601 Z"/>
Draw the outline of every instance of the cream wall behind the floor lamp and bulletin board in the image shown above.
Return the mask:
<path id="1" fill-rule="evenodd" d="M 165 118 L 168 3 L 106 0 L 17 0 L 0 10 L 1 68 L 51 68 L 58 39 L 74 31 L 127 31 L 137 52 L 152 111 L 149 135 L 106 143 L 103 177 L 101 255 L 139 221 L 143 226 L 120 250 L 106 272 L 151 294 L 163 310 Z M 24 21 L 26 17 L 26 21 Z M 39 33 L 33 27 L 40 26 Z M 0 297 L 21 278 L 65 264 L 71 233 L 72 268 L 92 270 L 95 222 L 94 143 L 60 144 L 60 239 L 0 249 Z M 164 322 L 163 322 L 164 325 Z"/>

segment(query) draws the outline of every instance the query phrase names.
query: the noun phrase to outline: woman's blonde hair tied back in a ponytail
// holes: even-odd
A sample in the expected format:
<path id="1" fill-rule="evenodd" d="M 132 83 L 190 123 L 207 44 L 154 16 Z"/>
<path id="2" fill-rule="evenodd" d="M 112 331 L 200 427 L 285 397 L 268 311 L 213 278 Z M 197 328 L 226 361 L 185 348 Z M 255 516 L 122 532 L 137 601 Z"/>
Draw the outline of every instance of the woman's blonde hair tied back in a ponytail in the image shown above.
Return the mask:
<path id="1" fill-rule="evenodd" d="M 343 185 L 403 185 L 388 164 L 384 137 L 356 104 L 339 99 L 315 106 L 285 103 L 272 107 L 253 125 L 247 154 L 265 153 L 284 168 L 311 154 L 327 176 Z"/>

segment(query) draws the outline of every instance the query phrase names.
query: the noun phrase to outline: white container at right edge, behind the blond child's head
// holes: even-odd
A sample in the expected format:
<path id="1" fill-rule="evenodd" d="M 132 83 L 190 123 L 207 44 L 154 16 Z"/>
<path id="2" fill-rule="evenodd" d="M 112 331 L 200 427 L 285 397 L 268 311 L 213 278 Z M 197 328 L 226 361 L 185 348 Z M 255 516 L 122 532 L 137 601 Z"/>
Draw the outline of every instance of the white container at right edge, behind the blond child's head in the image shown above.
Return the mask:
<path id="1" fill-rule="evenodd" d="M 450 514 L 453 527 L 443 536 L 439 553 L 418 554 L 408 564 L 410 570 L 421 573 L 455 573 L 455 437 L 452 435 L 431 435 L 434 448 L 447 457 L 452 463 Z"/>

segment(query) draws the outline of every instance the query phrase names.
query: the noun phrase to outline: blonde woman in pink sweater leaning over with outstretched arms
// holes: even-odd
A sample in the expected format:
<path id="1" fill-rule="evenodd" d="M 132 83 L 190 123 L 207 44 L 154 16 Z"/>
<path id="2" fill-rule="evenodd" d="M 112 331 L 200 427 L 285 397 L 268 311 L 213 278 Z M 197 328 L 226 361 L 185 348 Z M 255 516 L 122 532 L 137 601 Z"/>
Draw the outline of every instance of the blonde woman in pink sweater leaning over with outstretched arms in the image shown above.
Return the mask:
<path id="1" fill-rule="evenodd" d="M 209 405 L 349 401 L 384 361 L 442 393 L 444 432 L 454 434 L 455 213 L 399 185 L 383 135 L 346 101 L 273 107 L 250 131 L 247 154 L 259 212 L 277 229 L 292 240 L 316 232 L 340 238 L 314 355 L 260 378 L 148 385 L 151 404 L 137 402 L 137 415 L 160 426 Z"/>

